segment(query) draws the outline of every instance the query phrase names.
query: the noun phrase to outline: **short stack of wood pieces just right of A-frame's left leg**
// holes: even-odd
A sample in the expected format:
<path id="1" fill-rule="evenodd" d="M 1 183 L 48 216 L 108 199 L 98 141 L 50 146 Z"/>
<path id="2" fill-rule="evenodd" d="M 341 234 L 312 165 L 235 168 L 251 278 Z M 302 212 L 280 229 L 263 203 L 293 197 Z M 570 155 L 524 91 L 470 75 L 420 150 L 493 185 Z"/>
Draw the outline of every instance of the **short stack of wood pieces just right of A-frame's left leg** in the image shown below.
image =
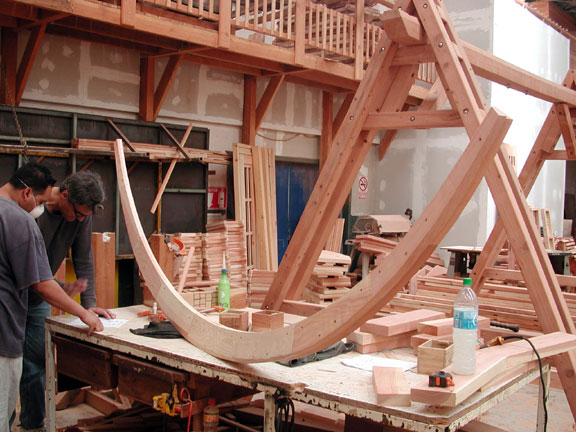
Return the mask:
<path id="1" fill-rule="evenodd" d="M 332 303 L 348 292 L 350 278 L 346 276 L 351 259 L 348 255 L 322 251 L 303 293 L 309 303 Z"/>

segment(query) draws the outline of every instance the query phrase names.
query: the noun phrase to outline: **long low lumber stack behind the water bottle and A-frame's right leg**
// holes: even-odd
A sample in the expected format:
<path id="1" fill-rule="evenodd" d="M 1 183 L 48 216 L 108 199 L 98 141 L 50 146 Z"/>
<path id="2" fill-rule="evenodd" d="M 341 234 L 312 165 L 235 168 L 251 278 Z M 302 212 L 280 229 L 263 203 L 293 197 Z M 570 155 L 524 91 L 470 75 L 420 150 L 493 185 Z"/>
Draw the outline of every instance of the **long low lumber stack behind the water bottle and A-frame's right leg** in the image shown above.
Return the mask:
<path id="1" fill-rule="evenodd" d="M 419 276 L 415 294 L 398 293 L 385 310 L 404 312 L 431 309 L 452 315 L 454 298 L 462 288 L 462 279 Z M 563 293 L 572 319 L 576 317 L 576 294 Z M 541 331 L 530 295 L 525 287 L 486 282 L 478 296 L 480 315 L 491 320 L 518 324 L 521 329 Z"/>

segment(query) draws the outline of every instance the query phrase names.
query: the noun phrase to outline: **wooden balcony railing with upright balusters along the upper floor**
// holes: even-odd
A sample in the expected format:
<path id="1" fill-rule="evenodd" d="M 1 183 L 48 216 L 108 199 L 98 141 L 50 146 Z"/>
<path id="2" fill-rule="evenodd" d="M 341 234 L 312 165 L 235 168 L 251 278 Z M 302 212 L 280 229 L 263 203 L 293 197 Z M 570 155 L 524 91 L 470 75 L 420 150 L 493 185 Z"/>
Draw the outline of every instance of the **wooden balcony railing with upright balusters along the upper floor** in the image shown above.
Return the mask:
<path id="1" fill-rule="evenodd" d="M 136 0 L 123 0 L 122 8 L 130 2 Z M 362 78 L 362 71 L 383 34 L 380 27 L 364 23 L 362 2 L 355 15 L 309 0 L 142 0 L 142 3 L 218 23 L 222 47 L 229 47 L 230 35 L 236 30 L 245 29 L 272 37 L 272 41 L 265 43 L 291 48 L 296 58 L 308 53 L 354 64 L 357 79 Z M 434 82 L 434 64 L 421 64 L 418 79 Z"/>

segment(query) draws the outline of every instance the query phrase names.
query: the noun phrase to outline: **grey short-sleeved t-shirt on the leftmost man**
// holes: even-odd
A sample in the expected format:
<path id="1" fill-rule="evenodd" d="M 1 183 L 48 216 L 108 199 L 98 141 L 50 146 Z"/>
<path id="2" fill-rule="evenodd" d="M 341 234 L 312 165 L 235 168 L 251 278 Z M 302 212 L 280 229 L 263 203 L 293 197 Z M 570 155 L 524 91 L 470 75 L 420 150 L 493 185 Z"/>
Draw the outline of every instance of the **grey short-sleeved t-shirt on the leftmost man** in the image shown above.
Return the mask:
<path id="1" fill-rule="evenodd" d="M 36 222 L 17 203 L 0 197 L 0 356 L 22 356 L 28 289 L 51 279 Z"/>

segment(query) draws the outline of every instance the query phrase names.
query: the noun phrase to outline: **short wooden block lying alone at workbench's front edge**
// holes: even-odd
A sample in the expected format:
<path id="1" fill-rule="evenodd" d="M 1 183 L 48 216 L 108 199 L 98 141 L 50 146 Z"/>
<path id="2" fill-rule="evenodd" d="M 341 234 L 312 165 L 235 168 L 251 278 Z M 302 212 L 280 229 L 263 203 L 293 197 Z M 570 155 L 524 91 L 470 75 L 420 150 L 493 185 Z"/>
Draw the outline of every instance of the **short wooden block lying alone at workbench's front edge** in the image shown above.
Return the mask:
<path id="1" fill-rule="evenodd" d="M 378 405 L 410 406 L 410 386 L 402 368 L 374 366 L 372 379 Z"/>

